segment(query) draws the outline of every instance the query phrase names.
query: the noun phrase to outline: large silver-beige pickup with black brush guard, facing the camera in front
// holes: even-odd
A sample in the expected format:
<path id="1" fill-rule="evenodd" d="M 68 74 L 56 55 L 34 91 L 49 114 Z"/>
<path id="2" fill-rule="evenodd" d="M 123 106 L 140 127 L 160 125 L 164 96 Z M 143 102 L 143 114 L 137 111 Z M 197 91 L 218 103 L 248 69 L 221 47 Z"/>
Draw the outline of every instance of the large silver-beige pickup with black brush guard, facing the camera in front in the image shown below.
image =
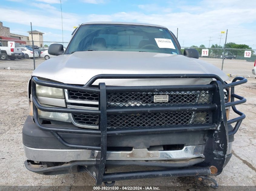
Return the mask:
<path id="1" fill-rule="evenodd" d="M 65 51 L 51 44 L 48 53 L 56 57 L 28 81 L 22 131 L 28 170 L 87 172 L 106 186 L 184 176 L 218 186 L 212 176 L 230 160 L 245 118 L 235 106 L 246 99 L 234 87 L 246 78 L 230 83 L 219 68 L 199 60 L 196 49 L 182 55 L 175 35 L 155 24 L 84 23 Z M 107 171 L 121 166 L 132 170 Z"/>

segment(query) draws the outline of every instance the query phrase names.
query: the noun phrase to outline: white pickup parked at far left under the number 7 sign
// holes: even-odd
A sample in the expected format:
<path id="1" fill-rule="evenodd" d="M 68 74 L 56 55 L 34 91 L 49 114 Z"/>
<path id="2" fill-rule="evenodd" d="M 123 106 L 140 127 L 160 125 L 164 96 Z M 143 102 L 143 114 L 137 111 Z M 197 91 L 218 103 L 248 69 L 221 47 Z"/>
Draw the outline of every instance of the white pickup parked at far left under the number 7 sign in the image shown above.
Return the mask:
<path id="1" fill-rule="evenodd" d="M 16 57 L 22 56 L 22 51 L 19 48 L 15 48 L 14 42 L 11 43 L 11 46 L 3 46 L 2 43 L 0 42 L 0 47 L 1 47 L 1 60 L 6 60 L 6 59 L 12 59 L 14 60 Z"/>

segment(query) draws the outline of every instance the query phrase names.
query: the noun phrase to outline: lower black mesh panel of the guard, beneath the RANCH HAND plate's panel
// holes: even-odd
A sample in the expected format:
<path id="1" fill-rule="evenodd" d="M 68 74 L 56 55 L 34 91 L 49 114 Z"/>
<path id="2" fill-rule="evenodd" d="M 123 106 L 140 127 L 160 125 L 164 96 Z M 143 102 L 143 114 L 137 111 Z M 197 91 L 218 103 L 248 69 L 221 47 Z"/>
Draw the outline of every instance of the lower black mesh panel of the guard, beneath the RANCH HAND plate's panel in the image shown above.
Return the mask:
<path id="1" fill-rule="evenodd" d="M 211 112 L 158 112 L 108 115 L 108 129 L 207 125 L 212 123 Z"/>

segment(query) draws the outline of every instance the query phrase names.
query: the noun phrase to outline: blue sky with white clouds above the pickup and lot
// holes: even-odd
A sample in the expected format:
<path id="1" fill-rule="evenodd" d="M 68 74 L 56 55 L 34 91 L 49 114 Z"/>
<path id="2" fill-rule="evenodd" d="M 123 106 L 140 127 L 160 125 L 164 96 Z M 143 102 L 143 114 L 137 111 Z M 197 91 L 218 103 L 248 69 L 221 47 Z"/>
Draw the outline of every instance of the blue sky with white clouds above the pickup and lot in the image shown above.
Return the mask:
<path id="1" fill-rule="evenodd" d="M 62 0 L 64 42 L 81 23 L 122 21 L 163 25 L 175 35 L 178 28 L 181 46 L 223 46 L 228 29 L 227 43 L 256 49 L 255 15 L 255 0 Z M 0 21 L 27 36 L 32 22 L 44 41 L 62 42 L 60 0 L 0 0 Z"/>

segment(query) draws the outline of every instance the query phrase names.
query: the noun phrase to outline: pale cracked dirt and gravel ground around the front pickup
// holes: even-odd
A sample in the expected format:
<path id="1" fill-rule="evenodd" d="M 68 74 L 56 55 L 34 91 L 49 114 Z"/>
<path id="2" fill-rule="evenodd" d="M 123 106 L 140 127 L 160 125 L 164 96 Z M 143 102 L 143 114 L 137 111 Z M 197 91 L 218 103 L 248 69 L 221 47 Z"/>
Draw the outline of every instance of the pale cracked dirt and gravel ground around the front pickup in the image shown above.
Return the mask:
<path id="1" fill-rule="evenodd" d="M 44 176 L 25 168 L 22 126 L 28 115 L 27 82 L 30 75 L 31 71 L 0 69 L 0 185 L 93 186 L 94 180 L 86 173 Z M 235 92 L 247 98 L 246 103 L 238 106 L 247 117 L 235 134 L 230 162 L 215 179 L 223 186 L 255 186 L 256 80 L 248 78 L 248 83 L 236 87 Z M 235 115 L 231 113 L 232 116 Z M 146 167 L 141 169 L 146 170 Z M 127 180 L 119 181 L 115 185 L 194 187 L 200 184 L 202 183 L 185 177 Z M 73 190 L 73 187 L 68 190 Z"/>

